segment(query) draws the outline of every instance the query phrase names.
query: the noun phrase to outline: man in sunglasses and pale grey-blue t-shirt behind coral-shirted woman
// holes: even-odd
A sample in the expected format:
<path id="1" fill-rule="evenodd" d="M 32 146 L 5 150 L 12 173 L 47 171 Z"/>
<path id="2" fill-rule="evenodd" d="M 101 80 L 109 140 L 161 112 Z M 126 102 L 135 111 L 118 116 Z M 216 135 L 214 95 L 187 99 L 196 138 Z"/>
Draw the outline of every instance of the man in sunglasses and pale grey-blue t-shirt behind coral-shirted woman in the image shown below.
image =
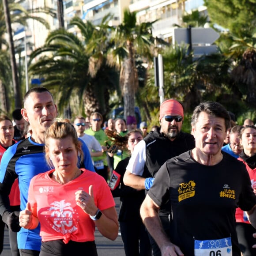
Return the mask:
<path id="1" fill-rule="evenodd" d="M 102 147 L 101 144 L 98 142 L 97 139 L 95 139 L 94 136 L 88 135 L 84 133 L 86 123 L 85 123 L 85 118 L 84 117 L 75 117 L 74 120 L 74 127 L 75 131 L 77 133 L 77 136 L 82 139 L 85 144 L 87 145 L 89 151 L 90 151 L 90 156 L 102 156 Z M 93 160 L 93 159 L 92 159 Z"/>

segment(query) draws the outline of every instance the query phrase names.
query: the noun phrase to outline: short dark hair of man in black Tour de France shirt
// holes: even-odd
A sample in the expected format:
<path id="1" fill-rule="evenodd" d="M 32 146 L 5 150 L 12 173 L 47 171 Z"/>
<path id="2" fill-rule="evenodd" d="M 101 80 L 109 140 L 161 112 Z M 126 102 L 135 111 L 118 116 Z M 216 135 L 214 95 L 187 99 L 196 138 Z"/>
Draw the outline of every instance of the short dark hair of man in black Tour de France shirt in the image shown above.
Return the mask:
<path id="1" fill-rule="evenodd" d="M 201 112 L 206 112 L 212 117 L 222 117 L 225 120 L 226 130 L 230 127 L 230 115 L 227 110 L 218 102 L 202 102 L 194 110 L 191 124 L 195 125 Z"/>

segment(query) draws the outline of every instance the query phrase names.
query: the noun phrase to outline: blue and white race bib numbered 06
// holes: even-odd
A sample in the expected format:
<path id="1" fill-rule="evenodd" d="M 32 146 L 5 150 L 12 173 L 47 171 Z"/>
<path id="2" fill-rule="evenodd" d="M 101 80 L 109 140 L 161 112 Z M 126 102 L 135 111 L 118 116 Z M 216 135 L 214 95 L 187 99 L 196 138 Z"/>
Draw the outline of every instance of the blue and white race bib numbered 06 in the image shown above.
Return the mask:
<path id="1" fill-rule="evenodd" d="M 232 256 L 231 238 L 195 240 L 195 256 Z"/>

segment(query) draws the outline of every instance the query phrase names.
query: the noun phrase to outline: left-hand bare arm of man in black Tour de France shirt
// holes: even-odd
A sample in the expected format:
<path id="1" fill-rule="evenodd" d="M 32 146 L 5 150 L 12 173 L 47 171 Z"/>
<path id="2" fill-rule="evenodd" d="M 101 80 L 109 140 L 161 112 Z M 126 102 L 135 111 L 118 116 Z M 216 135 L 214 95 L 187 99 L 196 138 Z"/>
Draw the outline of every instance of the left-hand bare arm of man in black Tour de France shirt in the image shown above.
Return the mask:
<path id="1" fill-rule="evenodd" d="M 170 242 L 169 237 L 163 230 L 158 216 L 159 208 L 151 197 L 147 195 L 140 207 L 142 221 L 161 249 L 162 256 L 183 256 L 181 249 Z"/>

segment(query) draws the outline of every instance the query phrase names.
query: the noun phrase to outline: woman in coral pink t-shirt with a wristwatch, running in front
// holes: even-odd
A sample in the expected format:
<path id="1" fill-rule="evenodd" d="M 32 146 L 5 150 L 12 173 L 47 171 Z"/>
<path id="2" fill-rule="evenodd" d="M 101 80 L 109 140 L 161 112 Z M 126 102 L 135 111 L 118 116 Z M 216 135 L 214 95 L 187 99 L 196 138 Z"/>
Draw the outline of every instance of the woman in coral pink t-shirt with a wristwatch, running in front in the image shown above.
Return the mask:
<path id="1" fill-rule="evenodd" d="M 30 182 L 27 207 L 20 226 L 41 225 L 40 256 L 96 256 L 94 230 L 115 240 L 117 212 L 107 183 L 97 173 L 77 167 L 82 155 L 71 124 L 55 122 L 45 133 L 46 160 L 54 169 Z M 86 254 L 85 254 L 86 252 Z"/>

